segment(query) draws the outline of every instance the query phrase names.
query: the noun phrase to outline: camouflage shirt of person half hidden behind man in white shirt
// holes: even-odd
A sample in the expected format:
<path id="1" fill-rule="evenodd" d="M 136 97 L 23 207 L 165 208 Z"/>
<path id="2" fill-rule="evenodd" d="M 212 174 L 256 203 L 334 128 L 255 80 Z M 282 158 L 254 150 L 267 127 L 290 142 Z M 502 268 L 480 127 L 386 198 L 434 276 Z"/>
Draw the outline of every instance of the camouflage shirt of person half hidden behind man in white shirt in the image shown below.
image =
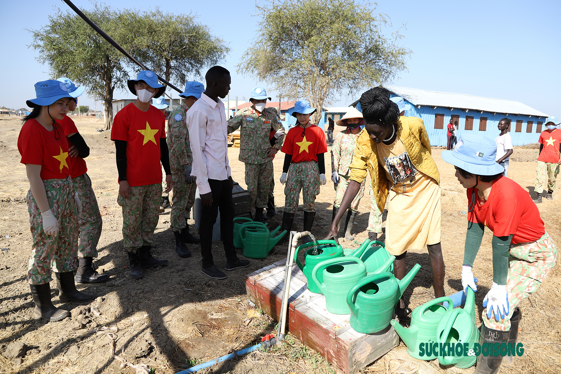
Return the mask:
<path id="1" fill-rule="evenodd" d="M 191 142 L 185 117 L 187 105 L 181 103 L 177 109 L 169 113 L 167 142 L 169 147 L 169 165 L 172 169 L 181 169 L 185 165 L 191 165 L 193 156 L 191 153 Z"/>

